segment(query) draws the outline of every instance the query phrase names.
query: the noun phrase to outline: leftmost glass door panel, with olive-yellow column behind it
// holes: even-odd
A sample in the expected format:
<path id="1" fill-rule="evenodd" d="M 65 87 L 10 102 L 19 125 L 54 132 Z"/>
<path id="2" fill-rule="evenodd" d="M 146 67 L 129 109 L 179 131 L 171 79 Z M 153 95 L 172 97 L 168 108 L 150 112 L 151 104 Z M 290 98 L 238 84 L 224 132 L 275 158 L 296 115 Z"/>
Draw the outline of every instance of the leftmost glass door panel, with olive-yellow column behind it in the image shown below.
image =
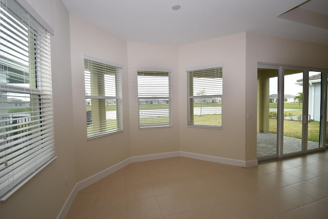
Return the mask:
<path id="1" fill-rule="evenodd" d="M 257 71 L 257 157 L 277 157 L 278 70 Z"/>

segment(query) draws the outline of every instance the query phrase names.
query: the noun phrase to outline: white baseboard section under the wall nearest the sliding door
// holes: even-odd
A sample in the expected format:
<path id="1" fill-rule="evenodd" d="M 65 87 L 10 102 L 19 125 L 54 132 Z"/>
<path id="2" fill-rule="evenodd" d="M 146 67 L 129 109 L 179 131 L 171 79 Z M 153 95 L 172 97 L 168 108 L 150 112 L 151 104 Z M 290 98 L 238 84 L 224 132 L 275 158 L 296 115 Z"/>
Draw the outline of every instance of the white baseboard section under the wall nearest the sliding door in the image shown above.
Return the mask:
<path id="1" fill-rule="evenodd" d="M 195 153 L 186 152 L 186 151 L 180 151 L 179 154 L 181 157 L 193 158 L 193 159 L 197 159 L 197 160 L 210 161 L 210 162 L 221 163 L 221 164 L 228 164 L 228 165 L 232 165 L 232 166 L 240 166 L 240 167 L 257 166 L 257 160 L 241 161 L 241 160 L 235 160 L 235 159 L 229 159 L 229 158 L 215 157 L 215 156 L 210 156 L 210 155 L 195 154 Z"/>

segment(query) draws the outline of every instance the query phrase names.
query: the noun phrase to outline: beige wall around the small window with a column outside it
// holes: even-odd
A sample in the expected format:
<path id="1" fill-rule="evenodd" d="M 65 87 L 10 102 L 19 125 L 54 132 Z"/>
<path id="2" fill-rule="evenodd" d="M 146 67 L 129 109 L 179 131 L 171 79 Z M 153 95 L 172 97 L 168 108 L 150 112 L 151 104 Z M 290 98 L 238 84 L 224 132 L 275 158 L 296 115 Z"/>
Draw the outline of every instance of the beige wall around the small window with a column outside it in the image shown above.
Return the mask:
<path id="1" fill-rule="evenodd" d="M 129 157 L 129 93 L 127 42 L 70 15 L 76 180 L 84 180 Z M 87 140 L 84 55 L 123 65 L 121 133 Z"/>

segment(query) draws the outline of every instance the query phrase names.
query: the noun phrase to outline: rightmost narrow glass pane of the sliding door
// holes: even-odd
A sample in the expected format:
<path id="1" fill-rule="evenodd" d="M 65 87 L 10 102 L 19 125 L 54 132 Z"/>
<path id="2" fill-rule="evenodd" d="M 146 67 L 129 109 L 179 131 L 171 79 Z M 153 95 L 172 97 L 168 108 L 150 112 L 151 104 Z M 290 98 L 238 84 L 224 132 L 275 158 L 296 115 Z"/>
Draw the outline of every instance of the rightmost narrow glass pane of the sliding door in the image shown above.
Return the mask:
<path id="1" fill-rule="evenodd" d="M 321 72 L 309 72 L 308 150 L 319 148 Z"/>

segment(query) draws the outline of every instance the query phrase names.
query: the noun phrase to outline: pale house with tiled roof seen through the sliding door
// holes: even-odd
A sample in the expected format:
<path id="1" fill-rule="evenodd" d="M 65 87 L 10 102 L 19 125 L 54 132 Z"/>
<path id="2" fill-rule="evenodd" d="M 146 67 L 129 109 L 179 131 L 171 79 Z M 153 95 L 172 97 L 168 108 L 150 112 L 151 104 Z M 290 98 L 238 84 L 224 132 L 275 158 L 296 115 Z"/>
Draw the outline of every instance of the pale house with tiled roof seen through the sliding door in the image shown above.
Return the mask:
<path id="1" fill-rule="evenodd" d="M 303 85 L 303 79 L 296 81 Z M 309 115 L 311 120 L 320 121 L 321 73 L 309 76 Z"/>

